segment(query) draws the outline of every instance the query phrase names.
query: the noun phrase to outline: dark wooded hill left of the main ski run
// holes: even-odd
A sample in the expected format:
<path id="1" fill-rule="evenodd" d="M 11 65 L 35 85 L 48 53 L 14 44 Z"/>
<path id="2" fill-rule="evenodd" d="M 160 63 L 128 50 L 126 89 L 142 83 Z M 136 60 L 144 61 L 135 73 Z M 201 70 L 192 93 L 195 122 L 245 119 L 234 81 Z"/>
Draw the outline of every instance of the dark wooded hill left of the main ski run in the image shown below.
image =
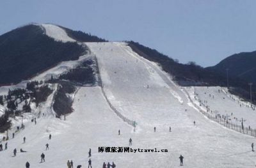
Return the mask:
<path id="1" fill-rule="evenodd" d="M 60 61 L 78 59 L 85 49 L 56 42 L 39 25 L 19 27 L 0 36 L 0 84 L 17 83 Z"/>

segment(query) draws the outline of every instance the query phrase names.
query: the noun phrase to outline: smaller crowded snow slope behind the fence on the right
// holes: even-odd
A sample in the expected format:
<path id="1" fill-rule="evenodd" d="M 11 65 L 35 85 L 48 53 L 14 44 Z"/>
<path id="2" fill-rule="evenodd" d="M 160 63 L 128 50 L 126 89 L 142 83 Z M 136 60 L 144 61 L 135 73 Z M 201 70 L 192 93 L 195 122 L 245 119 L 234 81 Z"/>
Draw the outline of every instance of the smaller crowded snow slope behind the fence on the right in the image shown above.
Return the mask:
<path id="1" fill-rule="evenodd" d="M 228 119 L 232 123 L 241 125 L 243 118 L 243 124 L 245 127 L 250 126 L 256 128 L 256 111 L 251 107 L 250 103 L 239 100 L 234 95 L 227 94 L 225 89 L 220 87 L 192 87 L 187 88 L 191 98 L 198 97 L 205 105 L 216 114 L 221 116 L 228 116 Z M 199 102 L 195 100 L 195 102 Z"/>

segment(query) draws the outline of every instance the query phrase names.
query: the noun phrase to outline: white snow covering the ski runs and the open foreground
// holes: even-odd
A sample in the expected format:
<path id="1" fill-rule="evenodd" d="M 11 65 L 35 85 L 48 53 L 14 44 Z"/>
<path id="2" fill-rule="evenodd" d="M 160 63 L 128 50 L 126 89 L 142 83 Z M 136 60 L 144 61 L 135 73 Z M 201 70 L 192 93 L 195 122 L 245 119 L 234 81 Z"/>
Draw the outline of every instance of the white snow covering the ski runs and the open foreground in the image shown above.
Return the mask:
<path id="1" fill-rule="evenodd" d="M 74 40 L 61 27 L 42 26 L 47 36 L 56 41 Z M 54 91 L 42 103 L 41 112 L 31 107 L 36 125 L 31 122 L 32 114 L 26 114 L 23 118 L 25 129 L 15 132 L 21 119 L 13 119 L 16 122 L 8 131 L 8 149 L 0 151 L 1 166 L 25 167 L 28 161 L 31 167 L 58 168 L 67 167 L 67 160 L 73 160 L 74 167 L 79 164 L 88 167 L 91 148 L 92 167 L 102 167 L 103 162 L 115 162 L 116 167 L 131 168 L 180 167 L 180 155 L 184 156 L 184 167 L 255 167 L 256 155 L 251 148 L 255 137 L 212 121 L 204 115 L 207 109 L 198 109 L 196 105 L 207 101 L 212 111 L 218 111 L 218 114 L 231 115 L 233 112 L 236 118 L 246 118 L 255 130 L 255 111 L 246 107 L 245 102 L 227 95 L 225 88 L 178 86 L 159 65 L 141 57 L 124 42 L 79 42 L 79 45 L 86 45 L 90 51 L 84 57 L 96 57 L 99 85 L 79 86 L 72 95 L 74 112 L 64 120 L 54 117 L 51 105 L 54 91 L 59 87 L 51 84 Z M 51 76 L 47 74 L 65 72 L 59 69 L 60 66 L 56 66 L 44 75 L 38 74 L 36 80 Z M 214 98 L 209 98 L 209 95 Z M 239 108 L 247 109 L 243 113 Z M 244 126 L 249 125 L 246 122 Z M 52 135 L 51 140 L 49 134 Z M 23 137 L 26 137 L 26 143 Z M 130 147 L 143 149 L 143 152 L 99 152 L 100 147 L 127 147 L 130 138 Z M 45 150 L 47 143 L 49 150 Z M 16 157 L 12 157 L 14 148 L 18 150 Z M 20 148 L 28 152 L 20 153 Z M 157 152 L 144 150 L 155 148 Z M 162 149 L 168 152 L 162 152 Z M 40 163 L 41 153 L 45 154 L 43 163 Z"/>

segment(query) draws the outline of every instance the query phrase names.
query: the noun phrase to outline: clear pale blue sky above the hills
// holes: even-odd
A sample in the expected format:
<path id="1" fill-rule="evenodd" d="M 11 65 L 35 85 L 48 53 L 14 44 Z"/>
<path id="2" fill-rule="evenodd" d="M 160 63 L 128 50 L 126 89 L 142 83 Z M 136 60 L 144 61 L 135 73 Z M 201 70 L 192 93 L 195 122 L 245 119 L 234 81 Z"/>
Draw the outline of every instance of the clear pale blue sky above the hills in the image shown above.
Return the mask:
<path id="1" fill-rule="evenodd" d="M 256 50 L 254 0 L 0 1 L 0 34 L 29 22 L 60 24 L 112 41 L 134 40 L 201 66 Z"/>

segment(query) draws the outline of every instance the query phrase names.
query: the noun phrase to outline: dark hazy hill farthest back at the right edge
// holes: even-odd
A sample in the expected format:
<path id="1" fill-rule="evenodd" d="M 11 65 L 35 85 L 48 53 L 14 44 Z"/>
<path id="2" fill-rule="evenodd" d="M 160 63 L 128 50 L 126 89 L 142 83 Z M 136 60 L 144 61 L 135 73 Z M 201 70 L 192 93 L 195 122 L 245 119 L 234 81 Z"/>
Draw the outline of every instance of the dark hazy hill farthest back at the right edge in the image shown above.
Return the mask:
<path id="1" fill-rule="evenodd" d="M 227 68 L 230 77 L 236 77 L 256 84 L 256 51 L 234 54 L 223 59 L 217 65 L 206 69 L 226 75 Z"/>

